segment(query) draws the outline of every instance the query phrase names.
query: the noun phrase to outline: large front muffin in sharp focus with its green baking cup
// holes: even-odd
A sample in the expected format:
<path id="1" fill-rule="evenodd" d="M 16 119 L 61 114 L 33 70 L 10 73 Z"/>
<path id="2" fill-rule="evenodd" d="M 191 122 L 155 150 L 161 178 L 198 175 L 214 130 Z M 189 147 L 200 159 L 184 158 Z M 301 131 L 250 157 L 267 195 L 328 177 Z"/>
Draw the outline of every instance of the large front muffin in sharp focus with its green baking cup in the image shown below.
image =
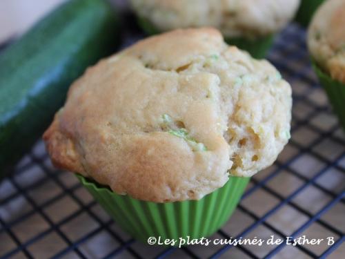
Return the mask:
<path id="1" fill-rule="evenodd" d="M 213 28 L 149 37 L 72 84 L 43 139 L 132 236 L 209 236 L 290 137 L 291 90 Z"/>

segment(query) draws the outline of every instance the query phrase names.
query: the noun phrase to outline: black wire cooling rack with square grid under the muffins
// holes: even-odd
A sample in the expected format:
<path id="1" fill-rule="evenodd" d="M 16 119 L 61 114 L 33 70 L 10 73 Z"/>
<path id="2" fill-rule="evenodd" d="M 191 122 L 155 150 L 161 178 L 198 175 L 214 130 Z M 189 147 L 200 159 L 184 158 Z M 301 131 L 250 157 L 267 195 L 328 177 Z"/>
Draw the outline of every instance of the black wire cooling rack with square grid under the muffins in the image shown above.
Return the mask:
<path id="1" fill-rule="evenodd" d="M 133 28 L 124 32 L 123 46 L 142 37 Z M 292 138 L 277 162 L 251 179 L 234 215 L 210 238 L 333 237 L 333 245 L 141 244 L 72 173 L 52 167 L 39 141 L 0 184 L 0 258 L 344 258 L 345 137 L 311 70 L 305 38 L 292 24 L 268 56 L 293 86 Z"/>

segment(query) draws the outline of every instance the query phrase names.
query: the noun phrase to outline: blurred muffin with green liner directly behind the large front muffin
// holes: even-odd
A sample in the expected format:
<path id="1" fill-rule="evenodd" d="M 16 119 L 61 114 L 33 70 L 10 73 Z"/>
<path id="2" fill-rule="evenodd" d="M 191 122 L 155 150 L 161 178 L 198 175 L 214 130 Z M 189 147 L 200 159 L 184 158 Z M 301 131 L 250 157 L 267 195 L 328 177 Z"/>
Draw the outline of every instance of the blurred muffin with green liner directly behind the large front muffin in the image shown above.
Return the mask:
<path id="1" fill-rule="evenodd" d="M 275 33 L 293 18 L 299 0 L 130 0 L 148 34 L 213 26 L 228 44 L 265 57 Z"/>

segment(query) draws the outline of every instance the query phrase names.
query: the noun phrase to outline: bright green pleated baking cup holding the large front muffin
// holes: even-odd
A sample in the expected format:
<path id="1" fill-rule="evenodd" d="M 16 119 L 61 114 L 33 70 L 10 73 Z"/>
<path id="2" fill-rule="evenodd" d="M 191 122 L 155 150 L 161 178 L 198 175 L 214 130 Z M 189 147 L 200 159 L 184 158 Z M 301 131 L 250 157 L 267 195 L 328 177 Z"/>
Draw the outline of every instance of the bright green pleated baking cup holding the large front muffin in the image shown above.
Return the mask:
<path id="1" fill-rule="evenodd" d="M 249 181 L 249 178 L 231 176 L 223 187 L 201 200 L 156 203 L 118 195 L 108 187 L 76 175 L 120 227 L 145 243 L 152 236 L 177 240 L 212 235 L 228 221 Z"/>

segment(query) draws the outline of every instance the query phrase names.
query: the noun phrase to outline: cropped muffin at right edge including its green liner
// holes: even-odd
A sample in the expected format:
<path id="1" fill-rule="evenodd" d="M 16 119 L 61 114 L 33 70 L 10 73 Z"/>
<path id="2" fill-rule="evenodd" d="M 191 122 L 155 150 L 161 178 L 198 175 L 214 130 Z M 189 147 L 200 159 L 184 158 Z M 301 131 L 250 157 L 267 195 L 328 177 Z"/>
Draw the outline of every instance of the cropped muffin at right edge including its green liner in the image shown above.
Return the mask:
<path id="1" fill-rule="evenodd" d="M 313 68 L 345 128 L 345 1 L 328 0 L 317 10 L 308 29 Z"/>

